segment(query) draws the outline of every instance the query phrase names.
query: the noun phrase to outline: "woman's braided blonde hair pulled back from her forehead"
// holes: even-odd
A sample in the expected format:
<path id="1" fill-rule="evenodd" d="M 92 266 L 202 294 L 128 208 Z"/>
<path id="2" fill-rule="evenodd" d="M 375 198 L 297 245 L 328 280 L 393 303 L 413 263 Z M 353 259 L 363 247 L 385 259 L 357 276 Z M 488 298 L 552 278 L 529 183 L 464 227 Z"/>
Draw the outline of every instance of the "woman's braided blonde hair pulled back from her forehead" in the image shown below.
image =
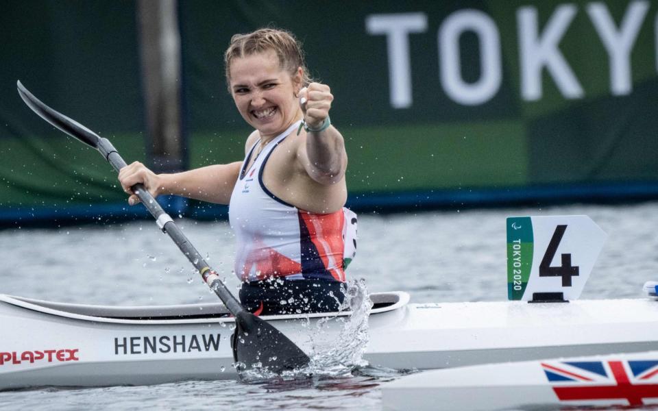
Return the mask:
<path id="1" fill-rule="evenodd" d="M 234 34 L 230 45 L 224 53 L 224 70 L 226 71 L 226 84 L 230 92 L 231 62 L 236 58 L 274 51 L 279 59 L 279 66 L 291 76 L 295 75 L 297 68 L 302 67 L 302 86 L 308 86 L 312 79 L 308 75 L 304 62 L 304 51 L 295 35 L 287 30 L 264 28 L 247 34 Z"/>

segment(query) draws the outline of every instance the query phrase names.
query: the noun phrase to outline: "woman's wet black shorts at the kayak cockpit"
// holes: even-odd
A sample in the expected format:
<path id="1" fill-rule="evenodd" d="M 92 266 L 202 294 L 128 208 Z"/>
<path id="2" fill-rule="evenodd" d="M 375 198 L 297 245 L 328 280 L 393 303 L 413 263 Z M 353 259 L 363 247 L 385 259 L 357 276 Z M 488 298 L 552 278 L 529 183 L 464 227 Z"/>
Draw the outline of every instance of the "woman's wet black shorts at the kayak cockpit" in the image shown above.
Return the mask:
<path id="1" fill-rule="evenodd" d="M 320 279 L 272 279 L 244 282 L 240 301 L 258 315 L 336 312 L 345 298 L 342 282 Z"/>

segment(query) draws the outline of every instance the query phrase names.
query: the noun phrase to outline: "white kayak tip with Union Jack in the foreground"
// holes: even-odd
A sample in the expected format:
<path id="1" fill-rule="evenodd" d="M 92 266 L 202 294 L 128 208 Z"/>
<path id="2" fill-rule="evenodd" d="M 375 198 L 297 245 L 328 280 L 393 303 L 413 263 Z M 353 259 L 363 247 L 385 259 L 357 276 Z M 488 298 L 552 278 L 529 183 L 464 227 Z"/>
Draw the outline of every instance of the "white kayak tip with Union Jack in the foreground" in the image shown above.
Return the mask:
<path id="1" fill-rule="evenodd" d="M 426 371 L 385 384 L 382 403 L 386 410 L 418 411 L 655 405 L 658 351 Z"/>

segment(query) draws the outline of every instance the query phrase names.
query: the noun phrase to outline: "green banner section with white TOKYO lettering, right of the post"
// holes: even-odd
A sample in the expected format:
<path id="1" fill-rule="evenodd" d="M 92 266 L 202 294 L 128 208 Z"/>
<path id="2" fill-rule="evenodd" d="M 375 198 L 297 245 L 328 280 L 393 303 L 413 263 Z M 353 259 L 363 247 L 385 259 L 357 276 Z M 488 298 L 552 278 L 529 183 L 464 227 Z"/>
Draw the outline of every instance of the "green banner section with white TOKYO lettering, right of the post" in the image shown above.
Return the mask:
<path id="1" fill-rule="evenodd" d="M 335 96 L 352 192 L 655 182 L 655 1 L 181 3 L 193 163 L 240 159 L 230 36 L 284 27 Z"/>

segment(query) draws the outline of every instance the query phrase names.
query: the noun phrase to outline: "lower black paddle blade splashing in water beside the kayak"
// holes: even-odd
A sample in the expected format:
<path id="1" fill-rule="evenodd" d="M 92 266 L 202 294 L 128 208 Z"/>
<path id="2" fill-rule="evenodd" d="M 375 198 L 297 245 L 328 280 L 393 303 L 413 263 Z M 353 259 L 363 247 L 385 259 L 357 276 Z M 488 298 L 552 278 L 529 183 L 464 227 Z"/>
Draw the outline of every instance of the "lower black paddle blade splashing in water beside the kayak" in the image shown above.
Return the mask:
<path id="1" fill-rule="evenodd" d="M 250 312 L 235 317 L 233 358 L 244 369 L 267 369 L 276 374 L 306 366 L 310 358 L 282 332 Z"/>

